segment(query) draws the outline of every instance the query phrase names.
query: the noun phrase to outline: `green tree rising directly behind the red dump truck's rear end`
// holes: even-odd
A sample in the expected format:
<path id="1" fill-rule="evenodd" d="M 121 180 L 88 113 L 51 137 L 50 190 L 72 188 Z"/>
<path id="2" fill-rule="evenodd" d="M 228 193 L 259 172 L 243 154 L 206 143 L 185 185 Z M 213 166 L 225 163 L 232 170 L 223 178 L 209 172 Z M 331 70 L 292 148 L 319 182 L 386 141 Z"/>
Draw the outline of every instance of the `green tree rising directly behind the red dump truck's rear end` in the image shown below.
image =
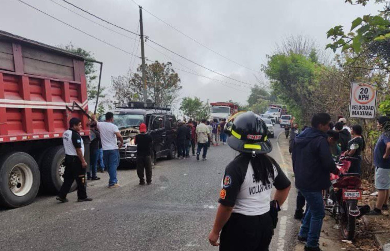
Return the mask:
<path id="1" fill-rule="evenodd" d="M 69 52 L 72 52 L 76 55 L 80 55 L 82 57 L 95 59 L 94 54 L 92 52 L 88 52 L 88 51 L 84 50 L 83 48 L 76 47 L 73 45 L 72 42 L 70 42 L 67 45 L 59 45 L 58 47 L 63 49 L 63 50 L 67 50 Z M 96 69 L 95 69 L 93 62 L 85 61 L 84 64 L 85 64 L 85 78 L 87 80 L 88 99 L 95 100 L 97 97 L 97 84 L 95 81 L 95 80 L 97 80 L 97 75 L 95 74 Z M 105 98 L 105 96 L 106 96 L 104 94 L 105 89 L 106 89 L 105 87 L 100 86 L 99 98 Z"/>

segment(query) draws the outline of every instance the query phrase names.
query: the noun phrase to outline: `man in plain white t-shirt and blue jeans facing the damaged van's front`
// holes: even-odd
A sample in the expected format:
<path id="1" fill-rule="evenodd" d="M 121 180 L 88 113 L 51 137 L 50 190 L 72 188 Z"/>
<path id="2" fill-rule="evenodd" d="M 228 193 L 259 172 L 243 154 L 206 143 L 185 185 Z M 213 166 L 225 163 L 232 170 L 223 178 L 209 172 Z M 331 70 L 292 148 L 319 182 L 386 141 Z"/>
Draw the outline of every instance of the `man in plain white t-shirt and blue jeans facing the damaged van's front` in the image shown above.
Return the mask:
<path id="1" fill-rule="evenodd" d="M 95 117 L 93 119 L 96 121 Z M 96 121 L 97 122 L 97 121 Z M 119 133 L 118 126 L 113 124 L 114 115 L 112 112 L 106 113 L 104 122 L 97 122 L 97 129 L 100 132 L 101 144 L 103 146 L 104 165 L 110 175 L 108 187 L 119 187 L 117 179 L 117 167 L 119 166 L 119 148 L 123 146 L 123 138 Z M 121 143 L 117 144 L 117 139 Z"/>

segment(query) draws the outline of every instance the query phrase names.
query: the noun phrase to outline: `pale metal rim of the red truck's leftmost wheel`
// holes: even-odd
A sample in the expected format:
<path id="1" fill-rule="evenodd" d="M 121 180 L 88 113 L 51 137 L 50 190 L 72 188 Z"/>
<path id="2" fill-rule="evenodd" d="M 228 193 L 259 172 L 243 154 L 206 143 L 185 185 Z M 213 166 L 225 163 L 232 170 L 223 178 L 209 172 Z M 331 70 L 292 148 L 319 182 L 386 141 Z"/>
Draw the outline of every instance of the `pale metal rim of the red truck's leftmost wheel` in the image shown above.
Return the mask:
<path id="1" fill-rule="evenodd" d="M 33 179 L 30 167 L 17 164 L 9 173 L 9 189 L 16 196 L 24 196 L 30 191 Z"/>

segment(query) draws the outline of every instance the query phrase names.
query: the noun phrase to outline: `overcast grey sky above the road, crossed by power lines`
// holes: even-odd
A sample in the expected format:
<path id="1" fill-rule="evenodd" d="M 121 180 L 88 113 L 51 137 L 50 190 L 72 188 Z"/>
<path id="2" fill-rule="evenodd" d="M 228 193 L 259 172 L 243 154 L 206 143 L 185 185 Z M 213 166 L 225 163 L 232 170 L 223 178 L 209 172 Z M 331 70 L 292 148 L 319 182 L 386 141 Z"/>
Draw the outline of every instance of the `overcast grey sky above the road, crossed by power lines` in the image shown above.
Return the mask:
<path id="1" fill-rule="evenodd" d="M 123 50 L 133 51 L 134 40 L 105 30 L 53 3 L 57 2 L 83 16 L 94 19 L 67 5 L 62 0 L 23 1 Z M 131 0 L 68 1 L 121 27 L 137 31 L 139 9 Z M 285 36 L 303 34 L 316 39 L 320 45 L 325 46 L 328 43 L 326 31 L 329 28 L 339 24 L 349 28 L 351 21 L 357 16 L 375 14 L 380 9 L 379 5 L 370 4 L 362 7 L 345 4 L 344 0 L 135 0 L 135 2 L 185 34 L 197 39 L 200 43 L 255 70 L 260 70 L 261 64 L 266 63 L 266 54 L 270 54 L 275 48 L 275 44 L 282 41 Z M 0 9 L 1 30 L 48 45 L 66 44 L 71 41 L 74 45 L 93 52 L 97 60 L 104 62 L 102 75 L 104 86 L 109 87 L 111 76 L 126 75 L 129 70 L 131 55 L 67 27 L 18 0 L 0 0 Z M 143 18 L 144 34 L 154 41 L 223 75 L 255 84 L 256 73 L 254 71 L 216 55 L 145 11 Z M 94 20 L 106 25 L 99 20 Z M 115 27 L 110 28 L 123 32 L 126 36 L 135 37 L 135 35 Z M 211 102 L 230 99 L 241 103 L 246 102 L 250 93 L 248 85 L 200 68 L 162 48 L 158 48 L 150 41 L 146 43 L 201 75 L 232 83 L 225 85 L 234 88 L 177 71 L 183 85 L 181 97 L 198 96 L 201 100 L 210 100 Z M 137 48 L 137 44 L 135 48 Z M 136 54 L 140 55 L 140 47 Z M 152 61 L 170 61 L 175 68 L 190 71 L 149 46 L 145 46 L 145 56 Z M 140 64 L 140 61 L 138 58 L 135 60 L 134 69 L 137 64 Z"/>

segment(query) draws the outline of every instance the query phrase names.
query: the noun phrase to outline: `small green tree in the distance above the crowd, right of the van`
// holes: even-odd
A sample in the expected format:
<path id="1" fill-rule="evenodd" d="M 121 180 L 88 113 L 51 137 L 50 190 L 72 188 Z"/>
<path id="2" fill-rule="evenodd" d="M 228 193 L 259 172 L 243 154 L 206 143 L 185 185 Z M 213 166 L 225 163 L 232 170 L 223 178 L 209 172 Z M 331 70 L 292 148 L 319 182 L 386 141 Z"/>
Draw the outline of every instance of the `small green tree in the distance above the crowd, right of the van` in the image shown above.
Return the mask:
<path id="1" fill-rule="evenodd" d="M 195 120 L 208 119 L 211 114 L 211 109 L 207 103 L 204 103 L 198 97 L 182 98 L 180 108 L 184 116 Z"/>

